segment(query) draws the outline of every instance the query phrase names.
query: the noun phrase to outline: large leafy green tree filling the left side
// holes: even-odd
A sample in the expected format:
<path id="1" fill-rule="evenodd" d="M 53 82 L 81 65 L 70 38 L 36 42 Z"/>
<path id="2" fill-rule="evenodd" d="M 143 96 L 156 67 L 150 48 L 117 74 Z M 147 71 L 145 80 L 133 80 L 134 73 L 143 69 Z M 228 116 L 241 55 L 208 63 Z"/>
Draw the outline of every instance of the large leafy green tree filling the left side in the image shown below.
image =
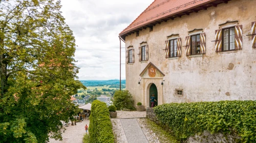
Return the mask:
<path id="1" fill-rule="evenodd" d="M 61 139 L 75 115 L 75 38 L 60 1 L 0 0 L 0 142 Z"/>

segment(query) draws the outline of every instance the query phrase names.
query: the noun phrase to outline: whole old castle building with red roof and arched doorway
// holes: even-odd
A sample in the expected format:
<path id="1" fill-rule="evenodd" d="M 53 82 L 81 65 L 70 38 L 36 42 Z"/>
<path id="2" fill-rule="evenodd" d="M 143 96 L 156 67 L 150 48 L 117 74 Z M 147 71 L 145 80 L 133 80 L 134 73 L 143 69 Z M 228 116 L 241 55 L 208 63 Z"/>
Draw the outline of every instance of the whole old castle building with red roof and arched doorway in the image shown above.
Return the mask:
<path id="1" fill-rule="evenodd" d="M 256 100 L 255 21 L 256 0 L 155 0 L 119 34 L 135 104 Z"/>

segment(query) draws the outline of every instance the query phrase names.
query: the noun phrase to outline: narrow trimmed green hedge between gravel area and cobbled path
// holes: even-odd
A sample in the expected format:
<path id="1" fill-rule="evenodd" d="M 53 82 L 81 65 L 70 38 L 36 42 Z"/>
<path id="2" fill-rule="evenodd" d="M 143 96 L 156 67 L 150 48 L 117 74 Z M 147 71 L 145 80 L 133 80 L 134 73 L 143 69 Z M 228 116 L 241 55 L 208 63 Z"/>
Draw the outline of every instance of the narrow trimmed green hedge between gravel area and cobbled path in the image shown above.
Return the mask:
<path id="1" fill-rule="evenodd" d="M 106 103 L 94 100 L 90 115 L 90 141 L 91 143 L 114 142 L 114 134 L 110 121 L 110 112 Z"/>

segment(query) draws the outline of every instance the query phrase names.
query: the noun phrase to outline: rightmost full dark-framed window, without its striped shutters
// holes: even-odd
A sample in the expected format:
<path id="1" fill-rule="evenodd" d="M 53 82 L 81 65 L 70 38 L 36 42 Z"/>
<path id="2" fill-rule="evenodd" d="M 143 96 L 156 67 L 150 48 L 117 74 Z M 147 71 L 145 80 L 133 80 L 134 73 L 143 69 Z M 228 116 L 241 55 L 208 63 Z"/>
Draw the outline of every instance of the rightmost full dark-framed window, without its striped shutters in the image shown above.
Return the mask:
<path id="1" fill-rule="evenodd" d="M 234 27 L 223 29 L 223 51 L 234 50 Z"/>

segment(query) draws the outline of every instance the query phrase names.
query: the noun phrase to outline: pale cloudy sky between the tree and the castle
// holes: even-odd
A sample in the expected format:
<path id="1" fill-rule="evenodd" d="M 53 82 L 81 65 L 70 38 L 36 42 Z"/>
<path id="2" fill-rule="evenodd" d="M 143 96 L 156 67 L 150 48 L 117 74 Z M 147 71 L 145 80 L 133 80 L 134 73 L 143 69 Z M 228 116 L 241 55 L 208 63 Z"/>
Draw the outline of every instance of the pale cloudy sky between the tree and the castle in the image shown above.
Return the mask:
<path id="1" fill-rule="evenodd" d="M 79 80 L 119 79 L 118 34 L 154 0 L 62 0 L 61 11 L 78 45 Z M 122 47 L 124 47 L 122 43 Z M 125 63 L 125 49 L 122 49 Z M 122 65 L 121 79 L 125 79 Z"/>

